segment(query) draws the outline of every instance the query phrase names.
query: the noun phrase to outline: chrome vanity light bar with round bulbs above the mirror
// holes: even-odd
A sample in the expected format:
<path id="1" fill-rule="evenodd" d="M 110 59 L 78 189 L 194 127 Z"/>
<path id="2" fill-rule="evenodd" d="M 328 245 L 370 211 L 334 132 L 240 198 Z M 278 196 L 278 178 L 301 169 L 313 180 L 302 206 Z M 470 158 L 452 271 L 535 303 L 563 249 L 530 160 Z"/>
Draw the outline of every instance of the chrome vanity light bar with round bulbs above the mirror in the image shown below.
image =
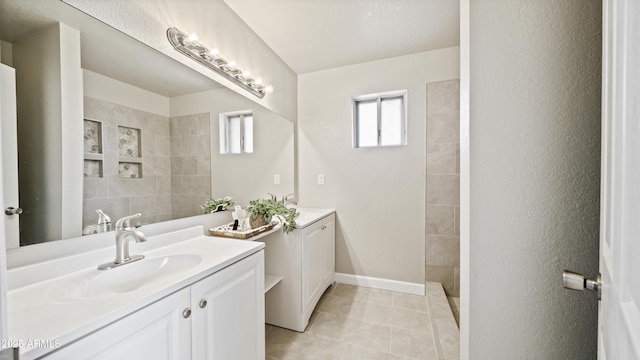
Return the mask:
<path id="1" fill-rule="evenodd" d="M 195 34 L 187 35 L 172 27 L 167 30 L 167 38 L 178 52 L 231 80 L 260 99 L 265 94 L 273 92 L 273 86 L 265 85 L 261 79 L 252 77 L 251 72 L 239 69 L 235 61 L 224 59 L 218 49 L 202 45 Z"/>

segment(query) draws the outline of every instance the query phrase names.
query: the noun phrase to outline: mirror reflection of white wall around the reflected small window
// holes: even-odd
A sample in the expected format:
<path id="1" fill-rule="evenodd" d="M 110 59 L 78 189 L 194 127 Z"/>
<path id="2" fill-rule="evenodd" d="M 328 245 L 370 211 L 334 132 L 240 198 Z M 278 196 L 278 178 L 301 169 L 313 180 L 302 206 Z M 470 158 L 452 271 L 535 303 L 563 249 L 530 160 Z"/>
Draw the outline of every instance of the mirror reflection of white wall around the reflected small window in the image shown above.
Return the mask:
<path id="1" fill-rule="evenodd" d="M 254 153 L 220 155 L 220 113 L 252 110 Z M 211 114 L 211 196 L 233 196 L 238 205 L 273 193 L 281 198 L 294 192 L 293 123 L 280 115 L 221 88 L 171 99 L 172 121 L 198 113 Z M 179 121 L 179 119 L 178 119 Z M 280 175 L 280 184 L 273 176 Z"/>

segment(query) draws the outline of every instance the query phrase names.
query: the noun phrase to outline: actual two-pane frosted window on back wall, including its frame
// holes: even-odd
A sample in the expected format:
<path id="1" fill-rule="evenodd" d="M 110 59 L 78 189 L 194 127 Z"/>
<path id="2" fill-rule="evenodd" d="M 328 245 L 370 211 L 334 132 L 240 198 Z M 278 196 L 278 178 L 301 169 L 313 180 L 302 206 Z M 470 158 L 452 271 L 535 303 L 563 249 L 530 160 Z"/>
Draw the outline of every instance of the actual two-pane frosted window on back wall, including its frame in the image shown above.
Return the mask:
<path id="1" fill-rule="evenodd" d="M 354 99 L 353 146 L 406 145 L 406 91 Z"/>

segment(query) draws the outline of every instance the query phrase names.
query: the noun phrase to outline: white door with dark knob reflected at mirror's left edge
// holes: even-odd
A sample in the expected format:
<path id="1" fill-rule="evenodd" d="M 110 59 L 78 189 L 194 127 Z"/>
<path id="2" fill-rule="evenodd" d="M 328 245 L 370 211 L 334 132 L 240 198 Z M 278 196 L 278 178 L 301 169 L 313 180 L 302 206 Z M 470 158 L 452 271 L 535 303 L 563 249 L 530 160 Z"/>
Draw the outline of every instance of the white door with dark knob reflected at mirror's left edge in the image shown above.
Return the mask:
<path id="1" fill-rule="evenodd" d="M 0 131 L 2 136 L 2 176 L 4 202 L 1 209 L 18 209 L 18 129 L 16 116 L 16 74 L 15 69 L 0 64 Z M 2 215 L 4 217 L 7 249 L 20 246 L 19 214 Z"/>

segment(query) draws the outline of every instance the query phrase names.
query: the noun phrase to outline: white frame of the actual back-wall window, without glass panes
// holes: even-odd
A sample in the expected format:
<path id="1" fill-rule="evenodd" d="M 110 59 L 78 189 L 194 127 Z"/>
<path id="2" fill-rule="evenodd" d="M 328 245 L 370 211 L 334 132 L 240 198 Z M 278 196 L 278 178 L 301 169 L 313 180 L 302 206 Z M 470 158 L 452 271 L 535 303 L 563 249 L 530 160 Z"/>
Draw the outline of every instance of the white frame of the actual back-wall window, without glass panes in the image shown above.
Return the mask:
<path id="1" fill-rule="evenodd" d="M 402 119 L 400 121 L 401 124 L 401 142 L 400 144 L 394 145 L 382 145 L 382 101 L 385 99 L 394 99 L 399 98 L 402 100 L 402 113 L 400 114 Z M 377 121 L 377 142 L 376 145 L 373 146 L 361 146 L 359 143 L 359 118 L 358 118 L 358 103 L 360 102 L 371 102 L 376 101 L 376 121 Z M 406 146 L 407 145 L 407 90 L 395 90 L 395 91 L 387 91 L 382 93 L 375 94 L 367 94 L 353 97 L 351 99 L 351 107 L 352 107 L 352 146 L 354 149 L 362 149 L 362 148 L 380 148 L 380 147 L 397 147 L 397 146 Z"/>

